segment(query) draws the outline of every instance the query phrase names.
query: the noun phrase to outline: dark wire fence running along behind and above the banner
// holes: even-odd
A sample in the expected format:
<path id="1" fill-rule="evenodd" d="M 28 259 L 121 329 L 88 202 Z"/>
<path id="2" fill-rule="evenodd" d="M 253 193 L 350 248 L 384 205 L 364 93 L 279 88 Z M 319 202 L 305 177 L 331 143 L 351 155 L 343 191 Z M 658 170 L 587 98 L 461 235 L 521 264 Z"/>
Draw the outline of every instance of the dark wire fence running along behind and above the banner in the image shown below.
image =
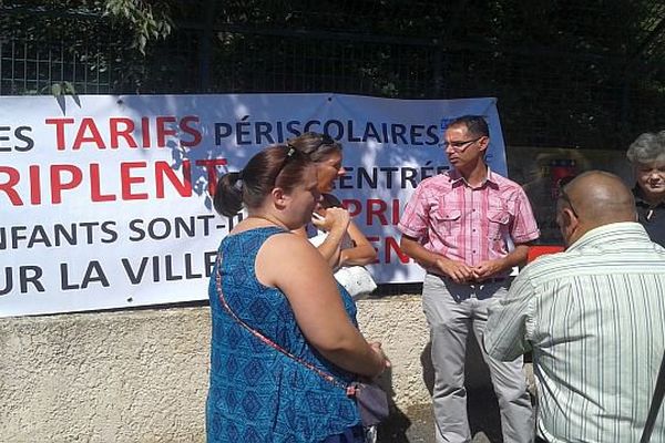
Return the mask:
<path id="1" fill-rule="evenodd" d="M 625 150 L 665 127 L 665 4 L 611 3 L 197 0 L 145 56 L 105 18 L 0 7 L 0 95 L 497 96 L 510 145 Z"/>

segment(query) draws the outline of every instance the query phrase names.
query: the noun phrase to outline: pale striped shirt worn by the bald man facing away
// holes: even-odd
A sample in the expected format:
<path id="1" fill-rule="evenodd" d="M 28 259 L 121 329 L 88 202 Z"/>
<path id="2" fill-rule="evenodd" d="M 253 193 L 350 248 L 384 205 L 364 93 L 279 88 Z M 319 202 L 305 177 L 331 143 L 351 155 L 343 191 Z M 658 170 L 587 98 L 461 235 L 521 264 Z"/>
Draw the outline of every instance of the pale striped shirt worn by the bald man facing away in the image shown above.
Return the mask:
<path id="1" fill-rule="evenodd" d="M 490 307 L 488 353 L 532 350 L 549 442 L 637 442 L 665 350 L 665 249 L 637 223 L 590 230 L 526 266 Z M 665 412 L 652 442 L 665 442 Z"/>

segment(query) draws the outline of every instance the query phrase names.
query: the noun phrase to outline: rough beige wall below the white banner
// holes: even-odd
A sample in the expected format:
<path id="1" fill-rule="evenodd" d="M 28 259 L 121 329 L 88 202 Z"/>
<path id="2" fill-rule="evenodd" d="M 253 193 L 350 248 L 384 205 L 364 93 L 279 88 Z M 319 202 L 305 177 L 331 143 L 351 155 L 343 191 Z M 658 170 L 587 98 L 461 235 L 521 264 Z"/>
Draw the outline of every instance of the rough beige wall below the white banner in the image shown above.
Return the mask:
<path id="1" fill-rule="evenodd" d="M 430 403 L 419 296 L 358 302 L 396 413 Z M 207 307 L 0 320 L 0 442 L 203 442 Z"/>

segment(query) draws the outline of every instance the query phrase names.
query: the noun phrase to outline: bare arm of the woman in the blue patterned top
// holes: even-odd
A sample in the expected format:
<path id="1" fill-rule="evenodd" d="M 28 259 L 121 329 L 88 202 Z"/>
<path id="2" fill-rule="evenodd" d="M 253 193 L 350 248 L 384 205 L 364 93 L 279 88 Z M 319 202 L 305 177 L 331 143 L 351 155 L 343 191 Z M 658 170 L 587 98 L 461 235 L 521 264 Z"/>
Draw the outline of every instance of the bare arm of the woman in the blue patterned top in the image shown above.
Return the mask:
<path id="1" fill-rule="evenodd" d="M 256 257 L 256 277 L 286 295 L 307 341 L 336 365 L 377 377 L 389 364 L 350 321 L 330 267 L 308 241 L 290 234 L 270 237 Z"/>

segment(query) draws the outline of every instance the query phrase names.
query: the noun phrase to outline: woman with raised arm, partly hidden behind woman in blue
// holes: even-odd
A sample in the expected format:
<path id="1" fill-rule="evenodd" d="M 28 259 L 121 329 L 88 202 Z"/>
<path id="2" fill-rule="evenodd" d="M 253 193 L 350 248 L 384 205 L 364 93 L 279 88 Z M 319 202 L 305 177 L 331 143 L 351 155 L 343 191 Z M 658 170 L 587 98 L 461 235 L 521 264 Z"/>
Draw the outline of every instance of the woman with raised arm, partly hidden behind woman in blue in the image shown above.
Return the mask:
<path id="1" fill-rule="evenodd" d="M 377 253 L 348 212 L 331 193 L 334 183 L 346 171 L 341 165 L 341 144 L 327 134 L 306 132 L 288 141 L 288 145 L 306 154 L 315 164 L 321 204 L 316 208 L 311 223 L 299 233 L 317 237 L 313 241 L 332 269 L 351 265 L 368 265 L 377 259 Z M 324 231 L 324 235 L 318 231 Z"/>

